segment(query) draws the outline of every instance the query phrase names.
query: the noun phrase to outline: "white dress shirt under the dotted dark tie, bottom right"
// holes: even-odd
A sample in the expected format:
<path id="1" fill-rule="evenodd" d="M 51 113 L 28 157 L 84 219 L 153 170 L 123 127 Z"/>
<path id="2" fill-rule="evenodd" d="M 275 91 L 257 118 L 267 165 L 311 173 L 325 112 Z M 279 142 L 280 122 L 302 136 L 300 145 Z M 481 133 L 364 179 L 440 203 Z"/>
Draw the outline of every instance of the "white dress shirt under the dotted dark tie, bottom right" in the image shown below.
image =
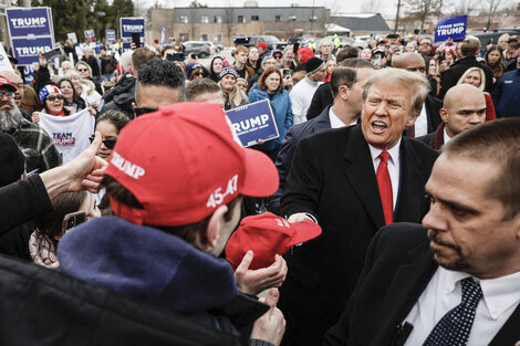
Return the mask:
<path id="1" fill-rule="evenodd" d="M 467 273 L 437 269 L 419 300 L 403 323 L 414 328 L 405 346 L 423 345 L 443 316 L 460 304 L 462 290 L 460 281 L 471 276 Z M 520 272 L 498 279 L 478 280 L 482 298 L 477 305 L 474 325 L 467 345 L 488 345 L 500 331 L 520 302 Z M 511 345 L 512 346 L 512 345 Z"/>

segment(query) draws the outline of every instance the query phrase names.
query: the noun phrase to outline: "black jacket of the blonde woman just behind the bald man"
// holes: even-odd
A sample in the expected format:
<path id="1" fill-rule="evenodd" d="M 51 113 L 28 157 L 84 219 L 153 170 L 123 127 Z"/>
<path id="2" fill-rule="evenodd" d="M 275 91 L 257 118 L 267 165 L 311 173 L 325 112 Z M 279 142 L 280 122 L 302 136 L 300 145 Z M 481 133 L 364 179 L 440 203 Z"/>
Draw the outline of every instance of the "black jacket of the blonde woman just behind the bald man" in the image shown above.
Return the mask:
<path id="1" fill-rule="evenodd" d="M 466 70 L 470 67 L 479 67 L 483 70 L 486 75 L 486 87 L 485 92 L 491 93 L 493 90 L 493 72 L 491 67 L 486 64 L 478 62 L 477 57 L 464 57 L 457 60 L 448 70 L 440 73 L 440 91 L 439 98 L 444 99 L 446 92 L 457 85 L 457 82 L 460 80 Z"/>

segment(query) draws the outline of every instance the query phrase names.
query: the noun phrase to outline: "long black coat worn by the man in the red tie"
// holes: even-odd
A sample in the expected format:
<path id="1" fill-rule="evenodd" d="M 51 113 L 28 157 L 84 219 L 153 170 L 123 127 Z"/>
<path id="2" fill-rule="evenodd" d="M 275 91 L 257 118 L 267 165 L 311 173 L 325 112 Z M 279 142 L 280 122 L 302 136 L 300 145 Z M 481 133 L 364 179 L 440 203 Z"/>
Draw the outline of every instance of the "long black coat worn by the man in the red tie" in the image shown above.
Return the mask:
<path id="1" fill-rule="evenodd" d="M 394 220 L 420 222 L 428 210 L 424 186 L 438 154 L 403 137 Z M 374 166 L 361 126 L 324 130 L 298 145 L 281 213 L 309 212 L 322 234 L 293 248 L 280 308 L 285 345 L 320 345 L 354 291 L 366 249 L 385 224 Z"/>

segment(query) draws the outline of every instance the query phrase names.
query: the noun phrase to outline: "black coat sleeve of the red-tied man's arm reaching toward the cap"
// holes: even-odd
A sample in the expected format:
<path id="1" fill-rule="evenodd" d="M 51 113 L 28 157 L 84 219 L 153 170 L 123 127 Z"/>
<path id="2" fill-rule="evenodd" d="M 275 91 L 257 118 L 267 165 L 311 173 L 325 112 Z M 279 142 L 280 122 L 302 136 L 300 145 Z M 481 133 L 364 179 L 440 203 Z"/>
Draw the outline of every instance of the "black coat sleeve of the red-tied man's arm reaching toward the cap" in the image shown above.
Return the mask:
<path id="1" fill-rule="evenodd" d="M 322 180 L 318 159 L 323 153 L 316 153 L 309 139 L 312 137 L 304 138 L 299 143 L 292 158 L 280 203 L 280 214 L 282 216 L 291 216 L 297 212 L 309 212 L 316 216 Z"/>

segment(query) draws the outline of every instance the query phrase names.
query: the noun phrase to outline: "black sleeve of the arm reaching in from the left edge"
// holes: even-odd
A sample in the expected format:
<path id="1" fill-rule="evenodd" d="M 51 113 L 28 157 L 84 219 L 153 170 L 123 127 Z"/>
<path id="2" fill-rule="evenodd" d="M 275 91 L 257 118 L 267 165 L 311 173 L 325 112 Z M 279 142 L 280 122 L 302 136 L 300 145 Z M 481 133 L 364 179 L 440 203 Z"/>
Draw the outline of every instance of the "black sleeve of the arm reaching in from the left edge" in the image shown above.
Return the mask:
<path id="1" fill-rule="evenodd" d="M 38 175 L 0 188 L 0 233 L 50 212 L 52 203 Z"/>

